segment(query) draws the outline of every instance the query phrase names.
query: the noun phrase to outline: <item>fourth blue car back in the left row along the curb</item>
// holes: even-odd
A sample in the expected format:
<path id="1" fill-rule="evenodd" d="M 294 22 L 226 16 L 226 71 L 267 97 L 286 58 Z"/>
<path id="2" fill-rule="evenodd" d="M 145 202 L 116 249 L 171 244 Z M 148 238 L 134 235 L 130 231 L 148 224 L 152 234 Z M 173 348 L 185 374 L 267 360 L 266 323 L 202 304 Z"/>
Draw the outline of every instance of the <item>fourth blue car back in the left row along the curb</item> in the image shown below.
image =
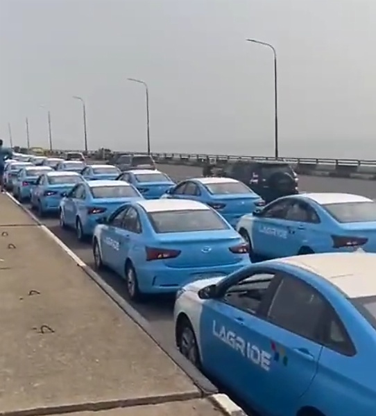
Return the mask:
<path id="1" fill-rule="evenodd" d="M 43 173 L 31 189 L 31 208 L 37 209 L 41 217 L 46 213 L 58 212 L 65 193 L 83 181 L 83 177 L 76 172 Z"/>

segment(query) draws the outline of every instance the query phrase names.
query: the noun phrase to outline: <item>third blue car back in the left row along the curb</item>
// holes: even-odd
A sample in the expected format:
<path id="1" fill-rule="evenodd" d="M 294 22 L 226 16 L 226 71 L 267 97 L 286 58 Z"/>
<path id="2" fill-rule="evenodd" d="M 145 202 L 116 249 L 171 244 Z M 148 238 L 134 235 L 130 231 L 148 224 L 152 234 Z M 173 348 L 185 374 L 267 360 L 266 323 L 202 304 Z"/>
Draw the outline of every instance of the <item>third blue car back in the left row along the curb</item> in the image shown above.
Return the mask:
<path id="1" fill-rule="evenodd" d="M 144 199 L 127 182 L 85 181 L 71 189 L 60 204 L 60 226 L 76 230 L 78 240 L 91 236 L 99 218 L 107 217 L 126 202 Z"/>

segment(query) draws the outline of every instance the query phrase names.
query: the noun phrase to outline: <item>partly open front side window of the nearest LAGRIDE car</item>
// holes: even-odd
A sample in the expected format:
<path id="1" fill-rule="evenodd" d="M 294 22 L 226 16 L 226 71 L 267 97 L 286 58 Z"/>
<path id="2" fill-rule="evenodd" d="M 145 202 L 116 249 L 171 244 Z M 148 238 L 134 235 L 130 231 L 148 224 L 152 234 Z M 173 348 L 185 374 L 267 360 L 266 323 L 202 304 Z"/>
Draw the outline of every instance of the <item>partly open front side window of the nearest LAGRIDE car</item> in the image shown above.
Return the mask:
<path id="1" fill-rule="evenodd" d="M 255 315 L 266 300 L 266 294 L 269 292 L 268 289 L 275 276 L 276 274 L 272 272 L 253 274 L 230 286 L 221 301 Z"/>

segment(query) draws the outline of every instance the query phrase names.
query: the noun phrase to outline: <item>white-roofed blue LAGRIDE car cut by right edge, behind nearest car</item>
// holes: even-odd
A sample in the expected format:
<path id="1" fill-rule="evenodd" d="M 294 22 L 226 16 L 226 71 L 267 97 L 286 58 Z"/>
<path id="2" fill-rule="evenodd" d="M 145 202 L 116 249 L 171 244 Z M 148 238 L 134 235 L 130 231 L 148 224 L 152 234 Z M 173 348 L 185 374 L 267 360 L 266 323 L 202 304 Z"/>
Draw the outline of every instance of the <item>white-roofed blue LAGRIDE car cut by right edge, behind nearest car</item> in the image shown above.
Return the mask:
<path id="1" fill-rule="evenodd" d="M 349 193 L 286 196 L 243 216 L 237 230 L 253 259 L 376 252 L 376 202 Z"/>

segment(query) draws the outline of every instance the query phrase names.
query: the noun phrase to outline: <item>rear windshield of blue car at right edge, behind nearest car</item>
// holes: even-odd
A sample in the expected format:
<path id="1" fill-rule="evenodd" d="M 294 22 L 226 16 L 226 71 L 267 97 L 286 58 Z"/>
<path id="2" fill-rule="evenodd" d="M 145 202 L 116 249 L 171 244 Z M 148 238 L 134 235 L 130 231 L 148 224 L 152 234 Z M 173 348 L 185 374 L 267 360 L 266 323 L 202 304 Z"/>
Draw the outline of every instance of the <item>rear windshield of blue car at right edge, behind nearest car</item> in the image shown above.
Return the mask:
<path id="1" fill-rule="evenodd" d="M 376 221 L 376 203 L 373 201 L 338 202 L 324 204 L 323 207 L 339 223 Z"/>

